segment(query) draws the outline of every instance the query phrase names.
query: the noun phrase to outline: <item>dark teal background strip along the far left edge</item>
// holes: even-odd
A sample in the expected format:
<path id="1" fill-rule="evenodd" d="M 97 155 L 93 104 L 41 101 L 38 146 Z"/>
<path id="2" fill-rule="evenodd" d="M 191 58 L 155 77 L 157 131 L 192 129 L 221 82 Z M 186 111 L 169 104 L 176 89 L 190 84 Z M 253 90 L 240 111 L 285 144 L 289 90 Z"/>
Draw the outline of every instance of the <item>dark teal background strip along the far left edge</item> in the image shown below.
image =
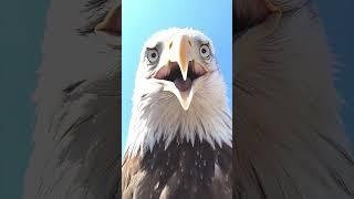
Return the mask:
<path id="1" fill-rule="evenodd" d="M 49 0 L 1 2 L 0 11 L 0 199 L 20 199 L 33 146 L 32 94 L 41 64 Z"/>

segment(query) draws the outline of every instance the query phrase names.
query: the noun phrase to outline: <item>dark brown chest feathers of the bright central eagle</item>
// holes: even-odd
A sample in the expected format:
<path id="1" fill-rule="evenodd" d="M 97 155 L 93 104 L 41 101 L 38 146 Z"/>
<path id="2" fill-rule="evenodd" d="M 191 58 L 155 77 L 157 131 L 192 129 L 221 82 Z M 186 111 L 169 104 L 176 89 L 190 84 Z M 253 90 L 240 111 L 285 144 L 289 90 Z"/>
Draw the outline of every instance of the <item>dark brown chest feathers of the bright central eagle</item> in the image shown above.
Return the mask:
<path id="1" fill-rule="evenodd" d="M 231 198 L 230 158 L 231 148 L 214 149 L 207 143 L 173 142 L 166 149 L 157 144 L 135 159 L 135 174 L 127 184 L 123 179 L 123 198 Z"/>

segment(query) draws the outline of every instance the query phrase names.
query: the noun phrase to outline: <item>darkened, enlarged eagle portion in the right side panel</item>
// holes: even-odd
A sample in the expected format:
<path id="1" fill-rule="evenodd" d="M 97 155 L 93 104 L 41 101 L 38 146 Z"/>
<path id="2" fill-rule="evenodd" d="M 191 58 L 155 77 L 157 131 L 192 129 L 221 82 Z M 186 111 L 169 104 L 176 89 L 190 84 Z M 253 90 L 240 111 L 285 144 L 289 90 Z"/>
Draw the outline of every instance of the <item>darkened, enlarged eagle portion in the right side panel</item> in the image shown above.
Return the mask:
<path id="1" fill-rule="evenodd" d="M 335 61 L 314 2 L 233 6 L 235 198 L 354 198 Z"/>

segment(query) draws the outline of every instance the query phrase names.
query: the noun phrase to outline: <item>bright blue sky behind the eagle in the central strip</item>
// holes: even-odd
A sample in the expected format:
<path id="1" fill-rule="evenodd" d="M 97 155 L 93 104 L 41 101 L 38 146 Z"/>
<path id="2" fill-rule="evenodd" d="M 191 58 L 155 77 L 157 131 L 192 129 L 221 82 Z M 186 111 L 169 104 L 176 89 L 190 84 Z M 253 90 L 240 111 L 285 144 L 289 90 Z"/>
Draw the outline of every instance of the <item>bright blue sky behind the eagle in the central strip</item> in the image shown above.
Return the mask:
<path id="1" fill-rule="evenodd" d="M 122 41 L 122 151 L 128 133 L 135 72 L 144 42 L 155 32 L 171 27 L 194 28 L 208 35 L 216 48 L 219 67 L 228 85 L 231 107 L 232 1 L 123 0 Z"/>

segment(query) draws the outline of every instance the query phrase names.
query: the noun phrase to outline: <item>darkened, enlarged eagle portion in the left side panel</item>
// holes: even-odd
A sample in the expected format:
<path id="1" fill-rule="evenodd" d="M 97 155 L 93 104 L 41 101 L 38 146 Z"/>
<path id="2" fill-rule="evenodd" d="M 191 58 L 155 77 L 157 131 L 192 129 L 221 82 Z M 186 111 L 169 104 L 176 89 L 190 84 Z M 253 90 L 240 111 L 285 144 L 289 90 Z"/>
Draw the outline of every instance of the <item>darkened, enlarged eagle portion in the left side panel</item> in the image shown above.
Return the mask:
<path id="1" fill-rule="evenodd" d="M 51 0 L 25 199 L 118 196 L 121 1 Z"/>

